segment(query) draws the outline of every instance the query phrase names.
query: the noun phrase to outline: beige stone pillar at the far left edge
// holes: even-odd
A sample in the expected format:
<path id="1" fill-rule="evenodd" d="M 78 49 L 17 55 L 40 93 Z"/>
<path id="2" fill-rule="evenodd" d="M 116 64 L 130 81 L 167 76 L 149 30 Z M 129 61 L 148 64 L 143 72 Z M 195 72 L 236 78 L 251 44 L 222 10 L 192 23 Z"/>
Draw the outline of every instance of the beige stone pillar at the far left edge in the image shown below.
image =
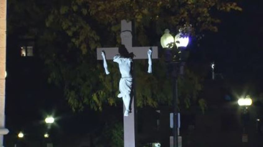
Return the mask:
<path id="1" fill-rule="evenodd" d="M 0 147 L 3 147 L 5 128 L 5 85 L 6 85 L 6 28 L 7 1 L 0 0 Z"/>

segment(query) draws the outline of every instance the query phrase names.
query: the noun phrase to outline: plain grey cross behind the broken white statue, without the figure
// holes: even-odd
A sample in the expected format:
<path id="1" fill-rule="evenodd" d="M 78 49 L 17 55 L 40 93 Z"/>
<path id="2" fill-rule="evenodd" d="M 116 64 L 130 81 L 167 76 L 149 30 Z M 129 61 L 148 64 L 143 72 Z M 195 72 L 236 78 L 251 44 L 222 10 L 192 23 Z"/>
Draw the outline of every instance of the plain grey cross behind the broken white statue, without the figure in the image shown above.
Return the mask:
<path id="1" fill-rule="evenodd" d="M 157 47 L 132 47 L 132 34 L 131 34 L 131 22 L 126 20 L 121 21 L 121 39 L 122 44 L 125 45 L 125 48 L 129 53 L 133 53 L 133 59 L 148 59 L 147 51 L 152 50 L 151 58 L 158 58 L 158 48 Z M 105 52 L 107 60 L 112 60 L 113 57 L 117 54 L 119 48 L 97 48 L 97 60 L 103 60 L 101 52 Z M 146 72 L 147 70 L 145 70 Z M 133 87 L 134 88 L 134 87 Z M 133 94 L 131 98 L 131 113 L 129 116 L 124 116 L 124 147 L 136 147 L 136 94 Z M 125 107 L 123 106 L 123 113 L 125 113 Z"/>

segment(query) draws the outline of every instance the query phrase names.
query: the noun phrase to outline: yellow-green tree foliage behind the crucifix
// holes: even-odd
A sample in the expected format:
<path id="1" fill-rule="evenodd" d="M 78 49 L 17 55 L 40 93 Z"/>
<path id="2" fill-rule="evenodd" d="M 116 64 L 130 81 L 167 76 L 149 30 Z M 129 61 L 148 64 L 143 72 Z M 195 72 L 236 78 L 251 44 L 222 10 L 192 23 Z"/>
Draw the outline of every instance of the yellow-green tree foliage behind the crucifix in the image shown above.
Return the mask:
<path id="1" fill-rule="evenodd" d="M 10 0 L 15 4 L 16 0 Z M 85 105 L 102 110 L 103 105 L 116 105 L 118 67 L 109 62 L 111 74 L 106 76 L 101 61 L 96 60 L 96 48 L 120 45 L 120 21 L 135 24 L 136 45 L 158 45 L 165 28 L 177 31 L 184 24 L 192 24 L 191 35 L 198 38 L 204 30 L 217 31 L 220 20 L 213 14 L 218 11 L 238 10 L 236 2 L 222 0 L 56 0 L 32 2 L 38 7 L 29 16 L 45 22 L 31 35 L 49 70 L 49 82 L 64 89 L 65 98 L 73 110 Z M 9 5 L 10 8 L 11 5 Z M 22 9 L 22 8 L 21 8 Z M 25 8 L 24 8 L 25 9 Z M 21 11 L 21 10 L 20 10 Z M 43 21 L 44 20 L 44 21 Z M 16 22 L 16 20 L 9 21 Z M 29 20 L 31 22 L 32 20 Z M 31 28 L 31 27 L 29 27 Z M 27 33 L 30 34 L 28 31 Z M 172 99 L 172 83 L 160 51 L 160 59 L 153 62 L 154 73 L 147 74 L 145 60 L 135 62 L 137 105 L 157 107 Z M 190 99 L 197 100 L 201 89 L 200 76 L 189 68 L 179 80 L 181 103 L 190 106 Z"/>

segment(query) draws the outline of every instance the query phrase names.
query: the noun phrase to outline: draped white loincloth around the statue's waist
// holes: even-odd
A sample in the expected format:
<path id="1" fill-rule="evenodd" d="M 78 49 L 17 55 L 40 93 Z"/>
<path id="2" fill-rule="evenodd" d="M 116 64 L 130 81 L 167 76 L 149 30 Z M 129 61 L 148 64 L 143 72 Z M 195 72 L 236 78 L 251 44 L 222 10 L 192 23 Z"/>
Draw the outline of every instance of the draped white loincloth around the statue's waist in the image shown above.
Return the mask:
<path id="1" fill-rule="evenodd" d="M 122 95 L 130 94 L 132 86 L 132 77 L 123 77 L 120 79 L 119 90 Z"/>

